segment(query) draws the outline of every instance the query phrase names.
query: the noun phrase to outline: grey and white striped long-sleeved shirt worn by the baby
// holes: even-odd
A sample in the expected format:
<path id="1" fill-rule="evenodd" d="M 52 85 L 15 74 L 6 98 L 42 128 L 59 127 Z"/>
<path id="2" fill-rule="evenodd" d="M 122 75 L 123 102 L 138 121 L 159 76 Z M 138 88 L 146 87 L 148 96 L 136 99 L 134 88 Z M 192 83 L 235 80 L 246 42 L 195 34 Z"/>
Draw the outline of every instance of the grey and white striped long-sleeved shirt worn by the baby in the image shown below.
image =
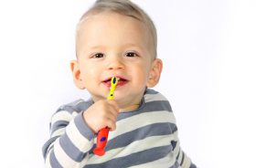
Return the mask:
<path id="1" fill-rule="evenodd" d="M 82 117 L 92 103 L 76 100 L 52 116 L 50 139 L 43 146 L 46 167 L 196 167 L 180 148 L 174 114 L 160 93 L 146 89 L 139 109 L 119 113 L 101 157 L 92 152 L 96 135 Z"/>

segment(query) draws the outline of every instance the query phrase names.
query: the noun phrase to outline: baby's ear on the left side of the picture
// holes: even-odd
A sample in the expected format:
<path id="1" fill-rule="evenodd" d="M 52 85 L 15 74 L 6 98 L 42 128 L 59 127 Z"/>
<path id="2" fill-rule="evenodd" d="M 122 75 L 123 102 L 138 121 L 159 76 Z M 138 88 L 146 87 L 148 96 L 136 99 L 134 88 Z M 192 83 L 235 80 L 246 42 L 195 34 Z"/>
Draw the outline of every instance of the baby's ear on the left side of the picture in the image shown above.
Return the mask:
<path id="1" fill-rule="evenodd" d="M 82 79 L 80 78 L 80 65 L 78 63 L 77 60 L 71 60 L 70 61 L 70 68 L 72 71 L 72 75 L 73 75 L 73 80 L 75 85 L 79 88 L 79 89 L 85 89 L 85 87 L 83 86 L 82 83 Z"/>

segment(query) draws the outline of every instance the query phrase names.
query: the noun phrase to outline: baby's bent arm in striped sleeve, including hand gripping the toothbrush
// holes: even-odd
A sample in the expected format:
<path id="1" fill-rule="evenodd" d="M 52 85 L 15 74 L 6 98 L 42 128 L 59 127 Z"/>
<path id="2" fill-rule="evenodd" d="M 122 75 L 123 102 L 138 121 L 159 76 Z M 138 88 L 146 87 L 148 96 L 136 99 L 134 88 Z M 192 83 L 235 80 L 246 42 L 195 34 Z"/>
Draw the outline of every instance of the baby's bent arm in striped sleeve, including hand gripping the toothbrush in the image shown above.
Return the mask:
<path id="1" fill-rule="evenodd" d="M 119 108 L 114 100 L 99 100 L 80 113 L 76 108 L 79 103 L 63 106 L 52 116 L 51 136 L 43 147 L 49 168 L 84 166 L 95 132 L 105 127 L 115 130 Z"/>

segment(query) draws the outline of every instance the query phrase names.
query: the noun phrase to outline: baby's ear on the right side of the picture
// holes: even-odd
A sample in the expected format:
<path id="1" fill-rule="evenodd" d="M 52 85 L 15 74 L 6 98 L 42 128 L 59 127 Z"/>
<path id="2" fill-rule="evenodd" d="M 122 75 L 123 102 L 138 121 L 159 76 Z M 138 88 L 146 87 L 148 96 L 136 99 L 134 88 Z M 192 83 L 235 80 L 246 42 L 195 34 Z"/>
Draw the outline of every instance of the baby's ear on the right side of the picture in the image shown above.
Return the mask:
<path id="1" fill-rule="evenodd" d="M 146 82 L 147 88 L 153 88 L 158 83 L 163 68 L 163 62 L 159 58 L 155 58 L 149 72 L 149 77 Z"/>

